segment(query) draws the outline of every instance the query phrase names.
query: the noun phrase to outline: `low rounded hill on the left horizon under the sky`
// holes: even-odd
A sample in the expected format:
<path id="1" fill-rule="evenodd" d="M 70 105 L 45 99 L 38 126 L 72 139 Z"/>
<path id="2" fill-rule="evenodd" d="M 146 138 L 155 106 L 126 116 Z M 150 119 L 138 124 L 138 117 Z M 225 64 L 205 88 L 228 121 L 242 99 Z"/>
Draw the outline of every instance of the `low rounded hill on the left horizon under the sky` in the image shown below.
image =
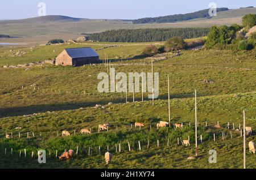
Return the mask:
<path id="1" fill-rule="evenodd" d="M 39 16 L 36 18 L 18 19 L 18 20 L 3 20 L 1 23 L 38 23 L 38 22 L 77 22 L 84 20 L 82 18 L 72 18 L 69 16 L 49 15 Z"/>

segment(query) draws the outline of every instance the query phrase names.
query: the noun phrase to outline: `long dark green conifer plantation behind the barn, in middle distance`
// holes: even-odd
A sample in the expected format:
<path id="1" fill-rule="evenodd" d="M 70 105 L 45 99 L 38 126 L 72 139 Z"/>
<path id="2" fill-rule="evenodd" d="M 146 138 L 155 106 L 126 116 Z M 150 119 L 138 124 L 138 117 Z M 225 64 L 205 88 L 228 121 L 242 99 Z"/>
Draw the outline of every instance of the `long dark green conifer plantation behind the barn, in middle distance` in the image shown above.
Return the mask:
<path id="1" fill-rule="evenodd" d="M 155 42 L 169 38 L 196 38 L 207 36 L 209 28 L 119 29 L 94 33 L 89 39 L 101 42 Z"/>

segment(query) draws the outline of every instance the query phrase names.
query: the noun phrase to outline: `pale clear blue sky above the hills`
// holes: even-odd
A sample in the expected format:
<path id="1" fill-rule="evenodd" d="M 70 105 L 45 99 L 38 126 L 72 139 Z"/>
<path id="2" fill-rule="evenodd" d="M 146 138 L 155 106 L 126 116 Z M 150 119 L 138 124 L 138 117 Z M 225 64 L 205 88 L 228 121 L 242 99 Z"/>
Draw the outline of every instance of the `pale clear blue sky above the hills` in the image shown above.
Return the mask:
<path id="1" fill-rule="evenodd" d="M 138 19 L 185 14 L 217 7 L 256 7 L 256 0 L 1 0 L 0 19 L 24 19 L 38 16 L 38 4 L 44 2 L 46 15 L 66 15 L 89 19 Z"/>

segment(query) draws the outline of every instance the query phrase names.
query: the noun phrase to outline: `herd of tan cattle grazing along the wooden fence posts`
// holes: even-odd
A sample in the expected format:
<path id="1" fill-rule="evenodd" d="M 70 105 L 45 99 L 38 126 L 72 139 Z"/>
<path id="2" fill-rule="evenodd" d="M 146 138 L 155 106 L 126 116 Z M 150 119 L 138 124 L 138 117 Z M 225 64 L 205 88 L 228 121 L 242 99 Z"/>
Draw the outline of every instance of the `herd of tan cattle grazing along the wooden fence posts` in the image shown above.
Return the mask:
<path id="1" fill-rule="evenodd" d="M 160 121 L 159 123 L 156 124 L 156 127 L 159 128 L 159 127 L 168 127 L 170 124 L 168 122 L 164 122 L 164 121 Z M 104 130 L 108 130 L 110 124 L 109 123 L 105 123 L 103 125 L 98 125 L 98 132 L 100 131 L 104 131 Z M 135 128 L 139 127 L 144 127 L 145 125 L 143 123 L 139 123 L 139 122 L 136 122 L 135 123 Z M 174 127 L 175 128 L 183 128 L 183 123 L 179 124 L 179 123 L 174 123 Z M 213 126 L 215 128 L 221 128 L 220 125 L 215 125 Z M 252 128 L 251 127 L 245 127 L 245 131 L 246 131 L 246 135 L 250 135 L 252 133 Z M 88 130 L 87 128 L 82 128 L 81 131 L 80 131 L 81 134 L 91 134 L 92 133 L 92 130 L 90 128 L 90 130 Z M 70 136 L 70 132 L 68 132 L 67 130 L 64 130 L 62 132 L 62 136 Z M 10 139 L 10 135 L 6 134 L 6 139 Z M 182 140 L 181 143 L 184 145 L 184 146 L 188 146 L 190 145 L 189 143 L 189 139 L 188 140 Z M 255 143 L 253 141 L 250 141 L 249 142 L 249 152 L 253 152 L 255 154 Z M 70 158 L 73 158 L 73 156 L 75 155 L 75 151 L 73 151 L 72 149 L 69 150 L 68 152 L 64 152 L 61 156 L 59 156 L 59 159 L 60 160 L 68 160 Z M 109 162 L 112 160 L 112 154 L 110 152 L 106 152 L 105 153 L 105 161 L 106 161 L 106 164 L 109 164 Z"/>

